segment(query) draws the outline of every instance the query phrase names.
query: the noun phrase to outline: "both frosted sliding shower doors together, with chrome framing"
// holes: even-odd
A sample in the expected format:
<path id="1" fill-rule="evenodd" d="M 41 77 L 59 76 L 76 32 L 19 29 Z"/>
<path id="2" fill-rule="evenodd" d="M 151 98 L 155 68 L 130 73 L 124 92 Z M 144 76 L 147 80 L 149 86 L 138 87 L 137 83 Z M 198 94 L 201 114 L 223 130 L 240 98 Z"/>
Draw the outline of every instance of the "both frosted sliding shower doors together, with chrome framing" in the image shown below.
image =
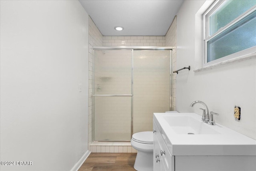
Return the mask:
<path id="1" fill-rule="evenodd" d="M 93 139 L 130 141 L 171 109 L 171 49 L 94 49 Z"/>

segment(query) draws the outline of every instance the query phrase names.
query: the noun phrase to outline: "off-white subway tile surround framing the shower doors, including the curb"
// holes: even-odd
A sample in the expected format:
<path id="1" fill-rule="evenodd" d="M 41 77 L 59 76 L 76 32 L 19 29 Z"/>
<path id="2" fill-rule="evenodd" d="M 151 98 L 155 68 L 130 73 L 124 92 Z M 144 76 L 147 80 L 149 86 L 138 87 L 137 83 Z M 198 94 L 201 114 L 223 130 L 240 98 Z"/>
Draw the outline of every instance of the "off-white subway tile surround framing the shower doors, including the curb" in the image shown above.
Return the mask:
<path id="1" fill-rule="evenodd" d="M 88 99 L 88 144 L 92 153 L 137 153 L 129 145 L 94 145 L 92 144 L 92 84 L 93 84 L 93 46 L 172 46 L 172 70 L 176 70 L 176 17 L 166 36 L 102 36 L 89 16 L 89 99 Z M 176 110 L 176 73 L 172 75 L 172 109 Z"/>

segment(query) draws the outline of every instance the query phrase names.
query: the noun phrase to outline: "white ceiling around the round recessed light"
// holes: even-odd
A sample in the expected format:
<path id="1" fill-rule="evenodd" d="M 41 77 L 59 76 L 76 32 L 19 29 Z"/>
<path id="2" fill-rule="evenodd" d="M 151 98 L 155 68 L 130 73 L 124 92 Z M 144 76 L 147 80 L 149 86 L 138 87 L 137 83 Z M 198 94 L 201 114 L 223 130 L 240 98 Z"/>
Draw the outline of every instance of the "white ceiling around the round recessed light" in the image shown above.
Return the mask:
<path id="1" fill-rule="evenodd" d="M 183 0 L 79 0 L 103 36 L 165 36 Z M 115 26 L 124 30 L 116 31 Z"/>

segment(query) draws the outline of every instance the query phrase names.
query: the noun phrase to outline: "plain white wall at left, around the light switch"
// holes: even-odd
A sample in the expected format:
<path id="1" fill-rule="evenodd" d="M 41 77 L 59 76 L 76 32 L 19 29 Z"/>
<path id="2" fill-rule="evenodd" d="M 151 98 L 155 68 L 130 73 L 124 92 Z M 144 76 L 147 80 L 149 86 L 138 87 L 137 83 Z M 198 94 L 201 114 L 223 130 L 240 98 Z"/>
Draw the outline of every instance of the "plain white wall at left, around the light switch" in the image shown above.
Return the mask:
<path id="1" fill-rule="evenodd" d="M 74 0 L 0 6 L 0 158 L 33 162 L 1 170 L 76 170 L 89 153 L 88 14 Z"/>

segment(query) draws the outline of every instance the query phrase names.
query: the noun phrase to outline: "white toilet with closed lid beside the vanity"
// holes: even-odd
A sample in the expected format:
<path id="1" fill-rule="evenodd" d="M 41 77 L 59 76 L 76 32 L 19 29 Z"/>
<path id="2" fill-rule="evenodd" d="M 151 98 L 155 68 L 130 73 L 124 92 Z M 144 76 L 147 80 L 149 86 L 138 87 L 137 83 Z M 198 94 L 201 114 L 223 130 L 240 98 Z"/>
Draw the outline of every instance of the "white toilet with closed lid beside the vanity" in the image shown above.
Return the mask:
<path id="1" fill-rule="evenodd" d="M 138 132 L 132 135 L 131 145 L 138 150 L 134 163 L 137 171 L 153 171 L 153 132 Z"/>

